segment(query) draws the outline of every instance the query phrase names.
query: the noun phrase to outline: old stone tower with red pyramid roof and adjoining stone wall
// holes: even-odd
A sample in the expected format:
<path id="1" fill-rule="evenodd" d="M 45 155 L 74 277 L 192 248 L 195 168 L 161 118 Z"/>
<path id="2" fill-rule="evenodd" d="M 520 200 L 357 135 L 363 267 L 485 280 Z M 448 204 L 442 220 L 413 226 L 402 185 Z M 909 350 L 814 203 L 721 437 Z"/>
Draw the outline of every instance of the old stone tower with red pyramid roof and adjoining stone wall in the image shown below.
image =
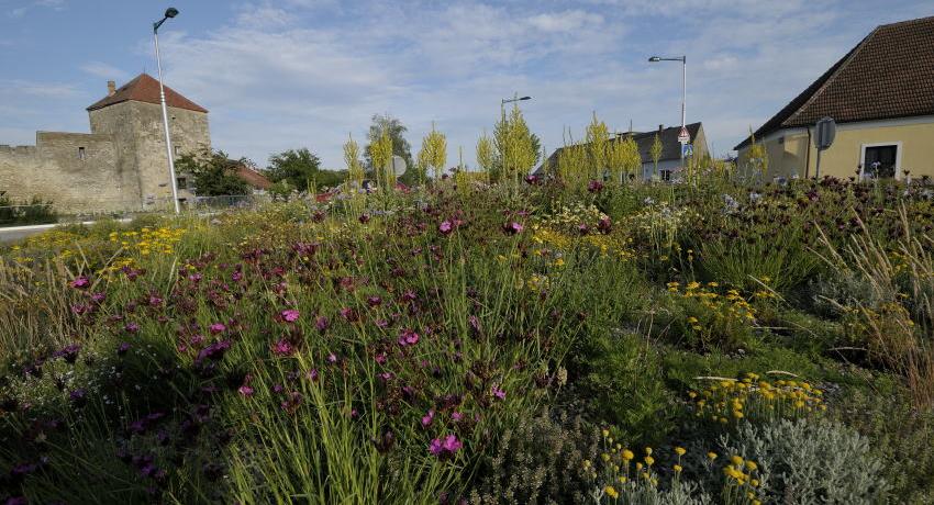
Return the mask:
<path id="1" fill-rule="evenodd" d="M 208 111 L 166 88 L 174 156 L 211 148 Z M 34 146 L 0 145 L 0 191 L 38 197 L 59 212 L 145 211 L 171 205 L 158 81 L 142 74 L 88 109 L 91 133 L 36 132 Z M 178 177 L 179 200 L 193 195 Z"/>

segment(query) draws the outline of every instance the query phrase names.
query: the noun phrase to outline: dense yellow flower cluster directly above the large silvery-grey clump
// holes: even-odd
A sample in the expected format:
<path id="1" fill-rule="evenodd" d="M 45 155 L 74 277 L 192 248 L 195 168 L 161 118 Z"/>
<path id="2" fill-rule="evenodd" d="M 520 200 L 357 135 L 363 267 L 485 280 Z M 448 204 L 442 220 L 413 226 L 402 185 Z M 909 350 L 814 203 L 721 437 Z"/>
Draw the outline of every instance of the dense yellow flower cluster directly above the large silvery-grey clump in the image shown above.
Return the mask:
<path id="1" fill-rule="evenodd" d="M 737 380 L 722 380 L 700 393 L 691 391 L 698 417 L 726 424 L 747 416 L 799 417 L 825 411 L 823 392 L 809 382 L 761 380 L 756 373 L 746 373 Z"/>

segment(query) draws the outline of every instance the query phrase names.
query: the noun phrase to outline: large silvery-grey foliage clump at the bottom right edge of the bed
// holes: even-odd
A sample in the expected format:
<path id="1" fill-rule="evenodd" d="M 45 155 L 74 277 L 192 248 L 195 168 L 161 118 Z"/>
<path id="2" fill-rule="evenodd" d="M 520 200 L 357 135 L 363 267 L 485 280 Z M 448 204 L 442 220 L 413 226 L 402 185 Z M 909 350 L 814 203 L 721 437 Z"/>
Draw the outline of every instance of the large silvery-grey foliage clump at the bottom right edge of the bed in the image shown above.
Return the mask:
<path id="1" fill-rule="evenodd" d="M 821 420 L 744 423 L 720 437 L 722 453 L 742 454 L 759 465 L 769 503 L 885 503 L 888 483 L 869 440 L 846 426 Z"/>

